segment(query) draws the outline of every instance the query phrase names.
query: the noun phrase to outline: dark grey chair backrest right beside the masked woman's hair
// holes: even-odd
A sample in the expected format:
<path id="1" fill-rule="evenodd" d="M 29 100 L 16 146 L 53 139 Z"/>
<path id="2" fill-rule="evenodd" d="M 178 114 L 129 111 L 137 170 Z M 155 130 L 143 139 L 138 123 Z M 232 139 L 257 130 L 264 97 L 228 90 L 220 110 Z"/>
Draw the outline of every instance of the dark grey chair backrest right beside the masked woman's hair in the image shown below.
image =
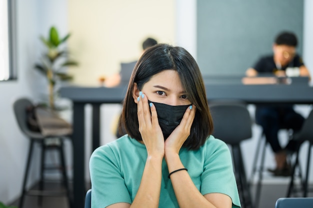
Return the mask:
<path id="1" fill-rule="evenodd" d="M 240 101 L 209 102 L 214 129 L 212 135 L 228 144 L 239 144 L 251 138 L 251 117 L 246 104 Z"/>

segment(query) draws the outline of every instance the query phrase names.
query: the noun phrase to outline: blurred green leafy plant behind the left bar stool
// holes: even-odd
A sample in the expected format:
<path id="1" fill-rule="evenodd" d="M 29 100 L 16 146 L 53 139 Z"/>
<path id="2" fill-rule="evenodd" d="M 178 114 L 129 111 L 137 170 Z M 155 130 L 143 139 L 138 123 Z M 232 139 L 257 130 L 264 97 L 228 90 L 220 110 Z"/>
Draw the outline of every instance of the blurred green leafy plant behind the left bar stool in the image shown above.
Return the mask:
<path id="1" fill-rule="evenodd" d="M 42 54 L 40 62 L 35 64 L 48 81 L 49 107 L 55 109 L 54 94 L 55 84 L 61 80 L 70 80 L 72 75 L 66 72 L 67 66 L 77 65 L 77 62 L 69 58 L 68 50 L 63 46 L 70 37 L 70 33 L 60 38 L 54 26 L 49 29 L 48 37 L 40 36 L 41 42 L 45 45 L 46 51 Z"/>

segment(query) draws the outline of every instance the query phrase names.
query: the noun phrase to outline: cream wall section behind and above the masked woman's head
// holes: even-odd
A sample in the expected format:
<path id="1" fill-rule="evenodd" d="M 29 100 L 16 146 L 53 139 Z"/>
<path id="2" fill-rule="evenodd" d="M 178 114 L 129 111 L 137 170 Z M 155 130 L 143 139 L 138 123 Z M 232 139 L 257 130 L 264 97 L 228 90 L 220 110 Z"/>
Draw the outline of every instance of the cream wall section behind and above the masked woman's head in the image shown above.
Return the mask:
<path id="1" fill-rule="evenodd" d="M 173 44 L 174 17 L 174 0 L 68 0 L 69 45 L 79 60 L 74 83 L 100 85 L 120 62 L 138 59 L 148 36 Z"/>

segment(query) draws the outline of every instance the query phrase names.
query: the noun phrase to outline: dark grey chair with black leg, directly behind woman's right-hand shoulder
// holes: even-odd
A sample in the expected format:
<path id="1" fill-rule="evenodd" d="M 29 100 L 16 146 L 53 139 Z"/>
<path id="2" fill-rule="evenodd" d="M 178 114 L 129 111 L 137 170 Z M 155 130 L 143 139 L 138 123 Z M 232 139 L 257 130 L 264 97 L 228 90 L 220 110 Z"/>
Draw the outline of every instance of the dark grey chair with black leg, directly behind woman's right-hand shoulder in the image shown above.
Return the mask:
<path id="1" fill-rule="evenodd" d="M 251 138 L 251 117 L 246 104 L 237 100 L 213 100 L 208 103 L 214 130 L 212 135 L 231 146 L 234 173 L 242 207 L 252 207 L 240 143 Z"/>

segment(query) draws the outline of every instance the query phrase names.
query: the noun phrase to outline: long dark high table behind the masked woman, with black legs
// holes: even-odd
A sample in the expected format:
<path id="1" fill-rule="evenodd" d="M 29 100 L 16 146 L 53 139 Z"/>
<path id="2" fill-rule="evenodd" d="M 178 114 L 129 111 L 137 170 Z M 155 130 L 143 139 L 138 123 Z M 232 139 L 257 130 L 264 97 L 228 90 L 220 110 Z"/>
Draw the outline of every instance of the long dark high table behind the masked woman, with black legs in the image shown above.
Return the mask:
<path id="1" fill-rule="evenodd" d="M 206 84 L 206 96 L 213 99 L 239 99 L 252 104 L 296 103 L 312 104 L 313 87 L 307 84 L 262 84 L 240 83 Z M 73 102 L 73 207 L 84 207 L 86 192 L 84 175 L 84 105 L 92 105 L 92 150 L 99 146 L 100 104 L 121 103 L 126 86 L 116 88 L 66 86 L 60 89 L 62 97 Z"/>

